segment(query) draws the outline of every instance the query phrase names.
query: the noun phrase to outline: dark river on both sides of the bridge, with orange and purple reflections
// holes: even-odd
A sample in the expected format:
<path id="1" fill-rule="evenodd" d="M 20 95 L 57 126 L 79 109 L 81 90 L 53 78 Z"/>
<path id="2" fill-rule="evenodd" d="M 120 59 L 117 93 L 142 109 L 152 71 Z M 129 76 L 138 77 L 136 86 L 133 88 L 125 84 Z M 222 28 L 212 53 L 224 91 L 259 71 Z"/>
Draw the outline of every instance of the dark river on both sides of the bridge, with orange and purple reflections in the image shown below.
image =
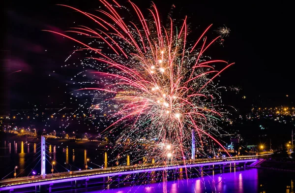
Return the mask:
<path id="1" fill-rule="evenodd" d="M 17 176 L 27 176 L 32 172 L 40 172 L 39 144 L 25 141 L 1 141 L 0 169 L 1 178 L 12 178 L 14 167 L 18 166 Z M 109 153 L 110 154 L 110 153 Z M 104 165 L 107 157 L 108 165 L 116 164 L 116 156 L 105 155 L 101 150 L 70 148 L 47 144 L 47 172 L 51 172 L 51 162 L 55 161 L 55 172 L 84 169 L 86 163 L 90 168 Z M 115 158 L 115 159 L 114 159 Z M 87 161 L 89 159 L 89 161 Z M 119 163 L 126 159 L 120 158 Z M 294 193 L 295 173 L 264 169 L 232 169 L 231 172 L 207 172 L 203 177 L 148 183 L 145 185 L 122 184 L 66 191 L 68 193 Z M 163 189 L 163 186 L 166 188 Z M 63 191 L 65 192 L 65 191 Z"/>

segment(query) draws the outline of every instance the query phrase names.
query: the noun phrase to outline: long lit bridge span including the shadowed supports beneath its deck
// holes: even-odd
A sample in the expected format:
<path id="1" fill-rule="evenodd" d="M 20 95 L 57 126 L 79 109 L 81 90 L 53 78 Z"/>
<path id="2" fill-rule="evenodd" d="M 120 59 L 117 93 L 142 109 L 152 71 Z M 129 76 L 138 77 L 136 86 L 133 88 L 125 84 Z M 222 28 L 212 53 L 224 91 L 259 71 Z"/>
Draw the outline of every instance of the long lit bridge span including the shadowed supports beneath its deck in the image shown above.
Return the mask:
<path id="1" fill-rule="evenodd" d="M 92 183 L 109 183 L 115 177 L 118 184 L 121 180 L 131 179 L 134 181 L 135 176 L 140 173 L 148 173 L 157 171 L 174 170 L 175 174 L 179 173 L 179 170 L 183 168 L 195 168 L 196 170 L 203 170 L 203 167 L 208 166 L 214 169 L 214 165 L 218 165 L 218 168 L 224 167 L 236 167 L 236 164 L 253 163 L 259 161 L 259 158 L 266 155 L 257 156 L 239 156 L 232 158 L 213 158 L 213 159 L 197 159 L 193 161 L 174 161 L 171 163 L 157 165 L 154 163 L 140 164 L 140 165 L 127 165 L 116 167 L 105 167 L 98 169 L 85 169 L 61 173 L 42 174 L 39 176 L 28 176 L 11 178 L 0 181 L 0 192 L 14 192 L 14 191 L 41 191 L 52 192 L 55 189 L 65 188 L 78 188 L 85 187 Z M 123 177 L 122 177 L 123 176 Z M 139 176 L 139 175 L 138 175 Z M 121 178 L 120 178 L 121 177 Z M 80 184 L 80 185 L 79 185 Z"/>

